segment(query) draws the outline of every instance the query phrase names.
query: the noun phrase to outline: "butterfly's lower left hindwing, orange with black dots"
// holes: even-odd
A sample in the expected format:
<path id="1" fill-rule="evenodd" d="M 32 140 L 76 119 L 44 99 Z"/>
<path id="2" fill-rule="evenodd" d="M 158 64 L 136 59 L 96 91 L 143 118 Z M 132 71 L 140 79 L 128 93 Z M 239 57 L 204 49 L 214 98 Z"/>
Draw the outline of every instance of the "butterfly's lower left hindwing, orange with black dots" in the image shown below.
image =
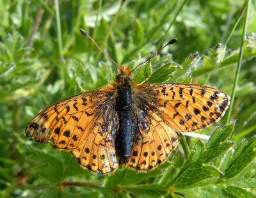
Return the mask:
<path id="1" fill-rule="evenodd" d="M 110 110 L 106 112 L 109 113 L 104 114 L 104 117 L 99 120 L 99 124 L 92 128 L 83 144 L 72 150 L 72 154 L 76 156 L 79 164 L 90 171 L 103 174 L 113 172 L 118 168 L 114 138 L 116 115 L 111 115 Z M 108 119 L 104 120 L 103 118 Z M 104 126 L 107 126 L 107 128 L 104 128 Z"/>

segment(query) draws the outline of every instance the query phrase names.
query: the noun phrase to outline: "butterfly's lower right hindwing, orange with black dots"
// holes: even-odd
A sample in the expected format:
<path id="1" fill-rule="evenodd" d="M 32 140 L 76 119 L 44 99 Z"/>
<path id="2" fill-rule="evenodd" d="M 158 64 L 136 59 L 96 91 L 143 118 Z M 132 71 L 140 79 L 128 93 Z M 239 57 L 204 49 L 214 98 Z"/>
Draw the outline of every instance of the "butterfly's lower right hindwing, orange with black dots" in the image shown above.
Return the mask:
<path id="1" fill-rule="evenodd" d="M 132 145 L 129 166 L 150 171 L 166 160 L 178 143 L 175 131 L 143 103 L 137 107 L 138 133 Z"/>

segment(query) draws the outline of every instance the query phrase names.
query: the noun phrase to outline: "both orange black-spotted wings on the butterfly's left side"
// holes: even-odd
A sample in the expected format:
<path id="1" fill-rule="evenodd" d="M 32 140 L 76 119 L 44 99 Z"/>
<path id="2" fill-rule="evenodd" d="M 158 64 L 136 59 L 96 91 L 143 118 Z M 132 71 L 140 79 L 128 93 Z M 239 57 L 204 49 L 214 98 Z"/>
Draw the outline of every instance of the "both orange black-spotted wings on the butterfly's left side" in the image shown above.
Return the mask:
<path id="1" fill-rule="evenodd" d="M 96 89 L 54 103 L 31 120 L 29 139 L 71 150 L 79 164 L 94 172 L 118 167 L 115 151 L 116 91 Z"/>

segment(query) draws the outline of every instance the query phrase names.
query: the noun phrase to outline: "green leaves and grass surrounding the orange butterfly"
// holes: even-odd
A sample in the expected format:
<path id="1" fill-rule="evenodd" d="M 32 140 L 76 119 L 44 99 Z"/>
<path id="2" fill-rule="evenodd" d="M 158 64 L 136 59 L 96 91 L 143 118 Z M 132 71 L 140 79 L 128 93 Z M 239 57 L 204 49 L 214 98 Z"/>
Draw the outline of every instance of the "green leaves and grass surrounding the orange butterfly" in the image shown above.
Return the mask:
<path id="1" fill-rule="evenodd" d="M 255 196 L 255 6 L 231 0 L 0 0 L 0 197 Z M 92 90 L 115 79 L 115 65 L 79 28 L 119 65 L 131 67 L 178 38 L 134 79 L 235 91 L 233 121 L 225 116 L 198 132 L 211 135 L 209 141 L 180 135 L 168 161 L 148 173 L 120 168 L 92 174 L 69 153 L 28 141 L 24 130 L 40 110 L 81 92 L 77 84 Z"/>

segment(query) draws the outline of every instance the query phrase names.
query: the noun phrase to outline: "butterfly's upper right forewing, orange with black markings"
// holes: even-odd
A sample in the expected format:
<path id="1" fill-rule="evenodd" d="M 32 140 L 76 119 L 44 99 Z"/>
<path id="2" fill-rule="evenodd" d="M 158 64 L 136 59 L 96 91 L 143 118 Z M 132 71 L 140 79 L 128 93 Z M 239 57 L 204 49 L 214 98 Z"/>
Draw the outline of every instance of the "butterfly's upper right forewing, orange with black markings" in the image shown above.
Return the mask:
<path id="1" fill-rule="evenodd" d="M 145 84 L 134 90 L 145 105 L 180 132 L 192 132 L 216 123 L 229 105 L 219 89 L 197 84 Z"/>

